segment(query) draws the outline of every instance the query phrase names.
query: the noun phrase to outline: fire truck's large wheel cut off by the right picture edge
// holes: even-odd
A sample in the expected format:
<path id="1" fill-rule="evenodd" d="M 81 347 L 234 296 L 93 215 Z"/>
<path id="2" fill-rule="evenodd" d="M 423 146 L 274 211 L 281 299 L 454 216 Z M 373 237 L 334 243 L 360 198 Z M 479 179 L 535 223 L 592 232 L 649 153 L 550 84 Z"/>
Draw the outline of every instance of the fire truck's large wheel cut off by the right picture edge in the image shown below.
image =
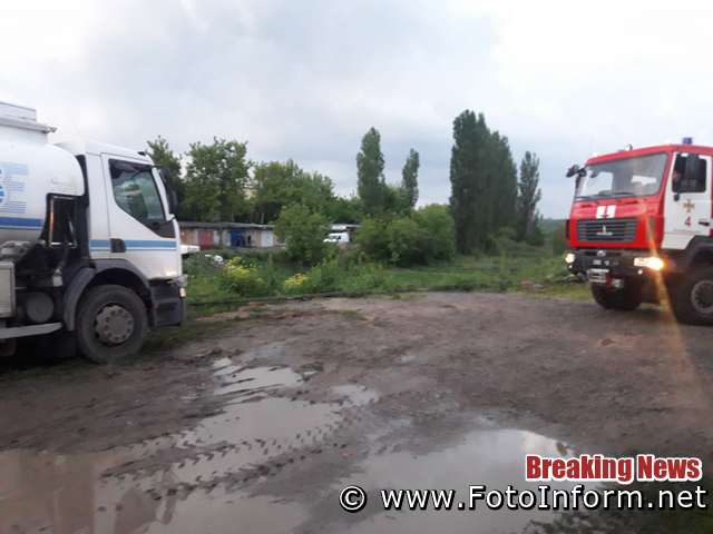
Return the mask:
<path id="1" fill-rule="evenodd" d="M 713 267 L 701 267 L 670 288 L 671 308 L 681 323 L 713 325 Z"/>

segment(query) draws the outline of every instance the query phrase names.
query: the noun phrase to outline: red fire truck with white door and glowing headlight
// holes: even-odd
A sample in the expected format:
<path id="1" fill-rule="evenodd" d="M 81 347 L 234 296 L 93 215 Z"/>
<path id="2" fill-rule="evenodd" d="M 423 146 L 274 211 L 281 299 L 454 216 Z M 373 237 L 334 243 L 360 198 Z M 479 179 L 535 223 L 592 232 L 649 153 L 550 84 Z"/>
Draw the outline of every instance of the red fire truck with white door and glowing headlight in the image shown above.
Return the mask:
<path id="1" fill-rule="evenodd" d="M 713 147 L 661 145 L 594 156 L 569 168 L 570 273 L 604 308 L 667 297 L 683 323 L 713 324 Z"/>

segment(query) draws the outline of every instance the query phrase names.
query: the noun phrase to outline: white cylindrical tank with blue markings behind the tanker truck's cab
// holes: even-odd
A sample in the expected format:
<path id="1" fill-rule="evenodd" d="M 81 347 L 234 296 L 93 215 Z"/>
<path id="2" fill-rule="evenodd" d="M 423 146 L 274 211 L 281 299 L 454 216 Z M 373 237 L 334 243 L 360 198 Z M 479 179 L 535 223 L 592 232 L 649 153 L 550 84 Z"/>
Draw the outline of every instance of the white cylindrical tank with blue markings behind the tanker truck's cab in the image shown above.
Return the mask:
<path id="1" fill-rule="evenodd" d="M 49 144 L 51 131 L 33 109 L 0 102 L 0 257 L 17 260 L 38 240 L 49 194 L 84 195 L 77 159 Z"/>

